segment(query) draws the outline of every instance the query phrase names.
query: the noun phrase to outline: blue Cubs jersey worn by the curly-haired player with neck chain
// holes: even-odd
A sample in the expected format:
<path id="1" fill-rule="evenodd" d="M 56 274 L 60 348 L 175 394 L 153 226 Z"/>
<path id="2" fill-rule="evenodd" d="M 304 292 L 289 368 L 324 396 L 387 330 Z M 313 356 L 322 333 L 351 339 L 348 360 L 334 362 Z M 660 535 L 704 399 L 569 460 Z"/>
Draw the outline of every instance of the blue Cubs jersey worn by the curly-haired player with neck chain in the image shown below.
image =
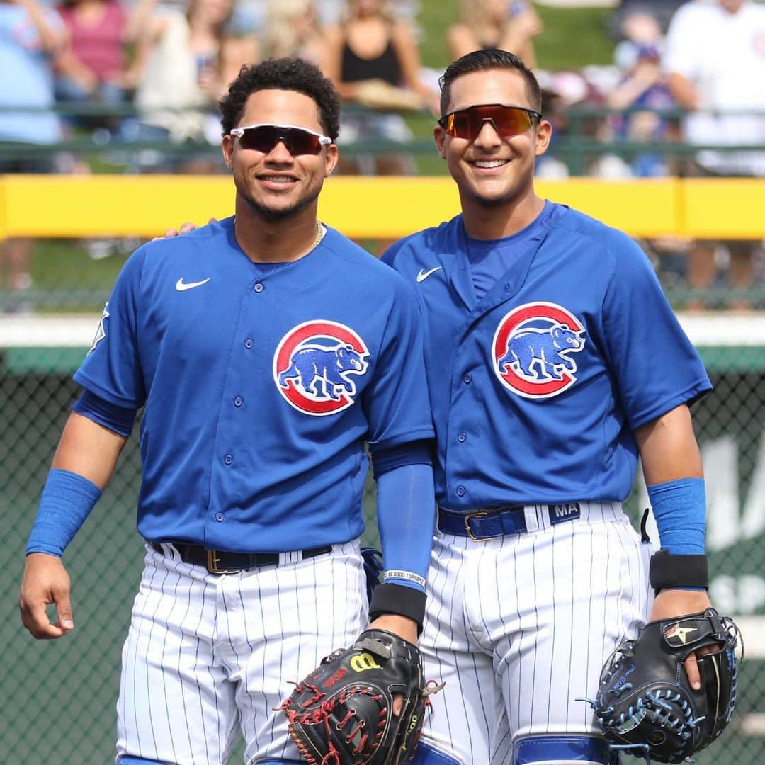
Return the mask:
<path id="1" fill-rule="evenodd" d="M 432 438 L 412 286 L 328 229 L 263 271 L 233 219 L 126 262 L 75 374 L 138 409 L 138 531 L 288 551 L 363 530 L 363 442 Z"/>

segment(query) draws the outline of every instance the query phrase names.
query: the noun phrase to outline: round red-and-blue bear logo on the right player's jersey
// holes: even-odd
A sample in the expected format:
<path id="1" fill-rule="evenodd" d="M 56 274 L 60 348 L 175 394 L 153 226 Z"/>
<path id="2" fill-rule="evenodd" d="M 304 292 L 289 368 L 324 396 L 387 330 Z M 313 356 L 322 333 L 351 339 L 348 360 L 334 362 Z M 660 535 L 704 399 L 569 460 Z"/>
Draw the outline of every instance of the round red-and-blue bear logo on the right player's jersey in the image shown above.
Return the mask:
<path id="1" fill-rule="evenodd" d="M 576 382 L 572 355 L 584 348 L 584 327 L 555 303 L 526 303 L 503 316 L 492 345 L 494 373 L 526 399 L 549 399 Z"/>

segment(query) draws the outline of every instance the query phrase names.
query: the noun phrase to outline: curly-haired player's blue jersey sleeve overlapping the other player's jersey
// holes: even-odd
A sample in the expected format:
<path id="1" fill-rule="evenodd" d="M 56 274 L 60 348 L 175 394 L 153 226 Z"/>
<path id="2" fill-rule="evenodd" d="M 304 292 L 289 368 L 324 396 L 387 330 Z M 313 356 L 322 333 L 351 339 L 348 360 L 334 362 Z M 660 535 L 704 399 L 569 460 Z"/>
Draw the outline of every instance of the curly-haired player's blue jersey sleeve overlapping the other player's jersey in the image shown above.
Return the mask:
<path id="1" fill-rule="evenodd" d="M 422 343 L 422 320 L 415 295 L 396 276 L 396 293 L 375 376 L 362 399 L 372 448 L 434 436 Z"/>

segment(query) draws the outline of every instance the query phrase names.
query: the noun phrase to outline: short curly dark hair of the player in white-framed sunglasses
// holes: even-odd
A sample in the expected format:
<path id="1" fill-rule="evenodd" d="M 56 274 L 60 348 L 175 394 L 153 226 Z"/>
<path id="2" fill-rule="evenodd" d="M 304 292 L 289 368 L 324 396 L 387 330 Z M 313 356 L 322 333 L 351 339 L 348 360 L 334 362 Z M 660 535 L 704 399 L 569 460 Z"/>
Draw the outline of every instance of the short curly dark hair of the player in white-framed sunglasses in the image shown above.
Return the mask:
<path id="1" fill-rule="evenodd" d="M 245 104 L 259 90 L 295 90 L 314 99 L 324 132 L 334 141 L 340 132 L 340 96 L 318 67 L 301 58 L 267 58 L 246 65 L 229 85 L 218 104 L 223 135 L 228 135 L 242 119 Z"/>

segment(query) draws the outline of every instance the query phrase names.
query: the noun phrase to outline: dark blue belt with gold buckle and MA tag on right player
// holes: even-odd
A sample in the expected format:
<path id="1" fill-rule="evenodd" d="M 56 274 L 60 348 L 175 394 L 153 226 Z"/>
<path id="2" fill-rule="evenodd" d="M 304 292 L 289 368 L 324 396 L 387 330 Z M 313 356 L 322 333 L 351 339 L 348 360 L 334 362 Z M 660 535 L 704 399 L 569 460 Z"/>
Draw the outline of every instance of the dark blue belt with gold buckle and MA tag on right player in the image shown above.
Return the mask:
<path id="1" fill-rule="evenodd" d="M 522 534 L 526 528 L 523 505 L 508 505 L 490 510 L 474 510 L 471 513 L 455 513 L 444 507 L 438 508 L 438 529 L 444 534 L 469 536 L 480 542 L 505 534 Z M 549 513 L 550 523 L 572 521 L 581 514 L 578 502 L 564 505 L 542 505 Z"/>

